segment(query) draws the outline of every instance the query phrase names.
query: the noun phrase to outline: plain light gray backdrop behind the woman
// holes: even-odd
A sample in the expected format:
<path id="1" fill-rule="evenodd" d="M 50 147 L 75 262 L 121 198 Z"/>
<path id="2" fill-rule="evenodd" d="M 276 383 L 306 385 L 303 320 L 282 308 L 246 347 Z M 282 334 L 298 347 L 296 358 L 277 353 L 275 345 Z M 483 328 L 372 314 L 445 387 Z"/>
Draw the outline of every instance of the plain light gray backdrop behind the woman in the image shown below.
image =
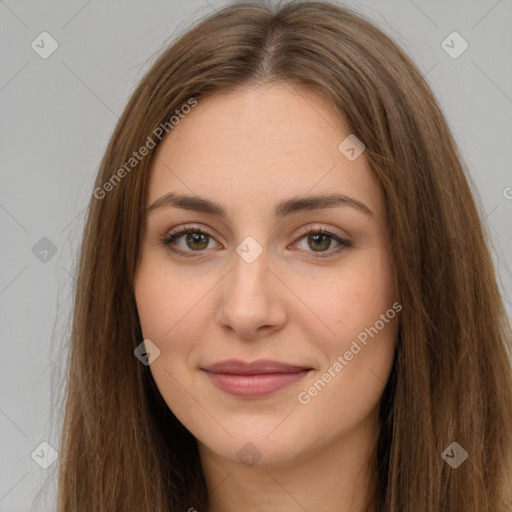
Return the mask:
<path id="1" fill-rule="evenodd" d="M 74 261 L 117 116 L 155 52 L 225 3 L 0 0 L 0 512 L 53 510 L 57 463 L 42 469 L 31 453 L 43 441 L 58 449 Z M 510 315 L 512 1 L 344 3 L 401 44 L 439 98 L 481 195 Z M 47 59 L 31 47 L 43 31 L 59 45 Z M 469 43 L 456 59 L 441 47 L 453 31 Z M 43 237 L 57 250 L 46 261 L 33 251 Z"/>

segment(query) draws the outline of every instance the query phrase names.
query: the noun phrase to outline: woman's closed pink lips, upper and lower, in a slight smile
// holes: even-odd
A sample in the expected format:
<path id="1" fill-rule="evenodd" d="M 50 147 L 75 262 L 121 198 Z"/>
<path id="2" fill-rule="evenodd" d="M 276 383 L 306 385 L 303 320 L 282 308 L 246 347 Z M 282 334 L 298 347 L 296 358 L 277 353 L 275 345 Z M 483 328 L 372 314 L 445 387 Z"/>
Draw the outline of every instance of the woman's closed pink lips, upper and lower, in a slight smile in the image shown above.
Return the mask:
<path id="1" fill-rule="evenodd" d="M 241 398 L 259 398 L 291 386 L 312 368 L 271 360 L 246 363 L 230 359 L 201 370 L 225 393 Z"/>

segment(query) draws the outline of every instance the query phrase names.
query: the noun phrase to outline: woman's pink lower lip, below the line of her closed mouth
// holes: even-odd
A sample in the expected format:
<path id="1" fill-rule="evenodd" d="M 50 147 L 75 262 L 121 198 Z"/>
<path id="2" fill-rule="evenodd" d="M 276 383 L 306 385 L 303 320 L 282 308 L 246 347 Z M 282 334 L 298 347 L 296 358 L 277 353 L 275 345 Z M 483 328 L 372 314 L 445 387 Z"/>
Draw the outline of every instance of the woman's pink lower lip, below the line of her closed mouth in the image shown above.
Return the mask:
<path id="1" fill-rule="evenodd" d="M 284 389 L 303 379 L 310 370 L 293 373 L 264 373 L 238 375 L 232 373 L 206 374 L 222 391 L 241 398 L 259 398 Z"/>

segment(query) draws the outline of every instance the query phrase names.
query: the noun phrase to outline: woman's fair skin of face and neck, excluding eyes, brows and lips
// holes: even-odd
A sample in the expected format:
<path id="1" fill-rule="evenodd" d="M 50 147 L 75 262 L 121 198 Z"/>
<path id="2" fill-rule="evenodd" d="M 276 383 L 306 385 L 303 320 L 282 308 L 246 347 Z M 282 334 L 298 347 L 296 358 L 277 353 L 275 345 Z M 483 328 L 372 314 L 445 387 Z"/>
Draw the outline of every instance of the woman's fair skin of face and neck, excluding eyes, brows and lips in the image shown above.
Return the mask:
<path id="1" fill-rule="evenodd" d="M 363 510 L 396 318 L 309 403 L 298 400 L 395 301 L 377 181 L 364 153 L 349 161 L 338 150 L 350 133 L 314 91 L 251 86 L 199 100 L 155 155 L 148 206 L 176 192 L 227 210 L 226 219 L 175 206 L 152 210 L 134 283 L 144 338 L 160 349 L 150 369 L 197 439 L 210 512 Z M 345 205 L 274 217 L 283 199 L 334 192 L 373 215 Z M 201 240 L 187 244 L 186 235 L 175 240 L 192 257 L 160 240 L 188 223 L 212 235 L 206 248 Z M 301 231 L 308 226 L 353 245 L 338 251 L 334 239 L 308 243 Z M 252 263 L 236 252 L 248 236 L 263 249 Z M 315 259 L 322 250 L 331 256 Z M 270 396 L 239 398 L 200 369 L 231 358 L 313 370 Z M 256 448 L 243 448 L 249 442 Z M 261 458 L 250 466 L 241 449 Z"/>

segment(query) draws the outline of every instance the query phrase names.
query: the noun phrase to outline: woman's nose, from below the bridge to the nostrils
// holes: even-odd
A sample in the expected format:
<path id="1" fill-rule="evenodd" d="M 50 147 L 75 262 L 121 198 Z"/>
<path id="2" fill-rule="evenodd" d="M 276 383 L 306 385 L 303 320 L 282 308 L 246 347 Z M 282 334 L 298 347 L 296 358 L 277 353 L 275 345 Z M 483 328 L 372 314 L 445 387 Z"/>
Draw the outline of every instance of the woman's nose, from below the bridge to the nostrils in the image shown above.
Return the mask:
<path id="1" fill-rule="evenodd" d="M 251 263 L 234 255 L 233 268 L 222 280 L 216 321 L 236 338 L 257 340 L 286 322 L 284 286 L 269 268 L 265 250 Z"/>

